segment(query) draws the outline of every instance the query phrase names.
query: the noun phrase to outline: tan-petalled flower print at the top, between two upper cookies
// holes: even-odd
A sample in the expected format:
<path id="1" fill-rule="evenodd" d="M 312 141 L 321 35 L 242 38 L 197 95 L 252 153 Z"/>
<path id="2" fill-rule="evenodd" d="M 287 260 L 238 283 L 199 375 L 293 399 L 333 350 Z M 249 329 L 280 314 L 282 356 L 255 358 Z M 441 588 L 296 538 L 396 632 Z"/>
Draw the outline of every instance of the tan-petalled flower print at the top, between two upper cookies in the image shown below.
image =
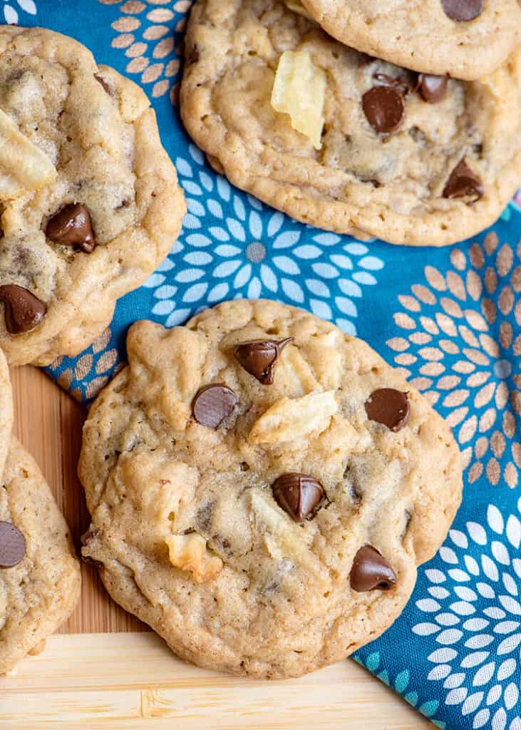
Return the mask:
<path id="1" fill-rule="evenodd" d="M 177 34 L 185 29 L 190 0 L 99 0 L 117 5 L 119 17 L 111 24 L 116 35 L 112 47 L 125 53 L 125 71 L 157 99 L 169 93 L 177 104 L 180 70 Z M 181 16 L 181 17 L 180 17 Z"/>

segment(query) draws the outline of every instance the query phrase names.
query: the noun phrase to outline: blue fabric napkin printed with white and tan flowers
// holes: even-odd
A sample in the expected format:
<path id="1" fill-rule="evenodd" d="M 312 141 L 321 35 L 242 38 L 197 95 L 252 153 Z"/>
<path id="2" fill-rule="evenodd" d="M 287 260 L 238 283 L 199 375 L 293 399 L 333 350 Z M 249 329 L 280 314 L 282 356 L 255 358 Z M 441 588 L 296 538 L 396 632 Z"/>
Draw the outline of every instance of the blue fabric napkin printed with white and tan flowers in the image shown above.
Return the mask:
<path id="1" fill-rule="evenodd" d="M 232 188 L 171 103 L 189 9 L 189 0 L 0 4 L 7 21 L 70 34 L 142 84 L 188 199 L 166 261 L 120 300 L 93 347 L 49 372 L 86 400 L 124 358 L 134 320 L 170 327 L 236 296 L 298 304 L 366 339 L 448 418 L 466 486 L 404 614 L 355 658 L 441 728 L 521 730 L 521 196 L 475 239 L 415 250 L 301 225 Z"/>

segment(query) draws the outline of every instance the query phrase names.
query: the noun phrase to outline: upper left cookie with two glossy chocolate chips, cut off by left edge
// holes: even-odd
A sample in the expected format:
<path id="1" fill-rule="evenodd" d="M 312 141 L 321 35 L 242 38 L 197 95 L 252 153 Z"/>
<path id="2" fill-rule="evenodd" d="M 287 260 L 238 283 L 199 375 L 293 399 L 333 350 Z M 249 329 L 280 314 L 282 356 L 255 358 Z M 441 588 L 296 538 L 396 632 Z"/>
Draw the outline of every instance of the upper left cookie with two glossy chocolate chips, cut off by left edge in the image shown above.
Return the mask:
<path id="1" fill-rule="evenodd" d="M 185 212 L 144 92 L 87 48 L 0 26 L 0 347 L 90 345 L 168 253 Z"/>

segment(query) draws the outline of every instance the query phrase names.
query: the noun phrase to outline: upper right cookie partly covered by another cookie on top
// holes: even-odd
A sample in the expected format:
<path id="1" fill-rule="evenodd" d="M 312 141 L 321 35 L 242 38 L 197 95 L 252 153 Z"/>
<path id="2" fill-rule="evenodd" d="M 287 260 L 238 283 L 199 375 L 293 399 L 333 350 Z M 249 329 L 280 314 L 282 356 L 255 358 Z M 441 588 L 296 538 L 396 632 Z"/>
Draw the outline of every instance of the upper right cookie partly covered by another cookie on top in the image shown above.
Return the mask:
<path id="1" fill-rule="evenodd" d="M 437 103 L 412 91 L 417 74 L 341 45 L 278 0 L 198 0 L 185 47 L 190 136 L 231 183 L 304 223 L 447 245 L 493 223 L 521 182 L 521 47 L 479 82 L 449 80 Z M 271 106 L 285 51 L 309 53 L 326 74 L 320 150 Z M 364 94 L 385 85 L 404 95 L 389 133 L 363 110 Z M 388 123 L 392 106 L 380 112 Z M 482 190 L 455 197 L 463 191 L 448 185 L 462 161 Z"/>

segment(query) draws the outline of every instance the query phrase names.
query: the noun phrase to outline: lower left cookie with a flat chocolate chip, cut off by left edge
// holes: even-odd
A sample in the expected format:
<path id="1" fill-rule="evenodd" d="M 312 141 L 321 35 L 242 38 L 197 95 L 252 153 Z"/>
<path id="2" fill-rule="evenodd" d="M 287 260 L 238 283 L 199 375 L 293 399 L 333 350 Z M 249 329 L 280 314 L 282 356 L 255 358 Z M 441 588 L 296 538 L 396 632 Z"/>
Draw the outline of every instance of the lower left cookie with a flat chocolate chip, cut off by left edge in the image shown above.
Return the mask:
<path id="1" fill-rule="evenodd" d="M 0 479 L 0 675 L 39 653 L 79 597 L 69 528 L 42 472 L 13 437 Z"/>

